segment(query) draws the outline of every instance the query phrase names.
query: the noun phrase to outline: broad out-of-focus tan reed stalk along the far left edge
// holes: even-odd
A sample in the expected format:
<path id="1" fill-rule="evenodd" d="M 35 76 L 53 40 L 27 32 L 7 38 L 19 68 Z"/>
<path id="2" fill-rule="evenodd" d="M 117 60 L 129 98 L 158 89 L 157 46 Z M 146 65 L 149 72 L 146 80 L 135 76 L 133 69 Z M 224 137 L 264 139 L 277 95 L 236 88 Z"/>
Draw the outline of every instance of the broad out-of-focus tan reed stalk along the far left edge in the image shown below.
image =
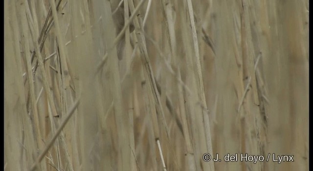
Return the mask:
<path id="1" fill-rule="evenodd" d="M 16 39 L 19 34 L 13 36 L 19 28 L 15 28 L 18 18 L 14 8 L 20 5 L 8 1 L 4 1 L 4 5 L 4 30 L 7 33 L 4 34 L 4 167 L 5 170 L 15 171 L 23 170 L 28 162 L 32 162 L 32 154 L 36 153 L 36 140 L 33 123 L 26 109 L 21 48 Z"/>

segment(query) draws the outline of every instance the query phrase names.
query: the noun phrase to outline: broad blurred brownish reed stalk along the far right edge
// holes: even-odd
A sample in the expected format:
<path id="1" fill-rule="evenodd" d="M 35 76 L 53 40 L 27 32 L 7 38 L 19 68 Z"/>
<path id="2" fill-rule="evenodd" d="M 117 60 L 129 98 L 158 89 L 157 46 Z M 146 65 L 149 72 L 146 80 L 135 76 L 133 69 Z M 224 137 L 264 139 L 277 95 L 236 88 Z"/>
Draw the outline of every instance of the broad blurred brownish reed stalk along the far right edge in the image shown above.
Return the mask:
<path id="1" fill-rule="evenodd" d="M 286 5 L 286 7 L 284 7 Z M 286 144 L 286 150 L 294 153 L 294 161 L 297 163 L 286 164 L 286 168 L 291 170 L 306 170 L 307 168 L 307 147 L 306 144 L 303 145 L 303 142 L 308 141 L 308 122 L 305 121 L 306 116 L 309 114 L 309 64 L 308 59 L 305 55 L 309 50 L 305 41 L 307 39 L 304 36 L 307 33 L 307 20 L 302 19 L 302 16 L 305 11 L 305 6 L 303 4 L 289 1 L 286 4 L 283 4 L 285 8 L 284 12 L 284 29 L 285 32 L 289 35 L 286 37 L 286 46 L 288 49 L 288 73 L 286 73 L 289 79 L 289 119 L 288 126 L 291 128 L 287 135 L 291 134 L 290 137 L 295 138 L 286 138 L 289 139 L 289 143 Z M 295 12 L 293 12 L 295 11 Z M 291 15 L 292 13 L 292 15 Z M 300 20 L 299 20 L 300 19 Z M 298 42 L 298 43 L 297 43 Z M 301 83 L 301 85 L 299 84 Z M 301 119 L 300 119 L 301 118 Z M 301 132 L 301 133 L 298 133 Z M 300 143 L 302 142 L 302 143 Z M 300 152 L 301 151 L 301 152 Z M 301 157 L 300 157 L 301 156 Z"/>

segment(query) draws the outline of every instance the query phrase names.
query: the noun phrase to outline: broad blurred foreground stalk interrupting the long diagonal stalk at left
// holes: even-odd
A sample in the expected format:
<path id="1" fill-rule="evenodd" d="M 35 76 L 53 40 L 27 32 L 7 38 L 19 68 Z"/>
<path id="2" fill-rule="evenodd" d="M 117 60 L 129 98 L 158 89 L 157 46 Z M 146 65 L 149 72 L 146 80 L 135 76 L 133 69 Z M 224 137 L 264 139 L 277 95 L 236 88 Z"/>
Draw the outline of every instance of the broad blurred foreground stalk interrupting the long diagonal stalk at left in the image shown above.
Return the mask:
<path id="1" fill-rule="evenodd" d="M 73 66 L 73 75 L 76 79 L 74 80 L 75 85 L 75 96 L 80 96 L 80 105 L 78 107 L 77 122 L 75 127 L 77 130 L 77 148 L 78 148 L 78 169 L 89 170 L 95 169 L 96 160 L 95 156 L 98 154 L 95 149 L 98 148 L 96 142 L 97 138 L 97 103 L 96 101 L 96 87 L 97 83 L 94 79 L 94 65 L 96 61 L 94 59 L 93 49 L 90 48 L 90 35 L 88 31 L 88 17 L 83 16 L 85 13 L 85 5 L 83 2 L 69 2 L 70 16 L 71 16 L 71 41 L 70 46 L 74 49 L 68 51 L 72 53 L 69 59 Z M 76 17 L 72 17 L 76 16 Z M 77 17 L 79 16 L 79 17 Z M 84 28 L 79 27 L 84 26 Z M 82 29 L 87 31 L 82 33 Z M 65 44 L 63 44 L 65 46 Z M 77 79 L 78 78 L 78 79 Z M 75 140 L 74 140 L 75 141 Z M 91 153 L 92 152 L 92 153 Z"/>

